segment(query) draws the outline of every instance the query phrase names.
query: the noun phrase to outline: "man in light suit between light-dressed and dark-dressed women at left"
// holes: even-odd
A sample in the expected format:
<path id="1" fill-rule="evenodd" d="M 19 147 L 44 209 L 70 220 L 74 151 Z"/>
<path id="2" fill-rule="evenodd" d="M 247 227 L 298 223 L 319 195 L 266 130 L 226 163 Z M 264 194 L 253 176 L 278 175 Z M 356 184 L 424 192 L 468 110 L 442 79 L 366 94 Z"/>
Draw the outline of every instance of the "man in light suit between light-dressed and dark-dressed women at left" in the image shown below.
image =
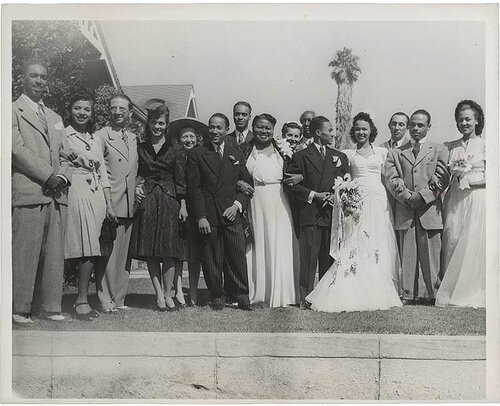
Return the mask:
<path id="1" fill-rule="evenodd" d="M 97 294 L 102 310 L 106 312 L 127 308 L 127 254 L 138 170 L 137 137 L 125 129 L 132 114 L 132 102 L 128 96 L 113 96 L 109 101 L 109 114 L 109 126 L 94 134 L 101 139 L 112 200 L 101 236 L 103 256 L 96 264 Z"/>

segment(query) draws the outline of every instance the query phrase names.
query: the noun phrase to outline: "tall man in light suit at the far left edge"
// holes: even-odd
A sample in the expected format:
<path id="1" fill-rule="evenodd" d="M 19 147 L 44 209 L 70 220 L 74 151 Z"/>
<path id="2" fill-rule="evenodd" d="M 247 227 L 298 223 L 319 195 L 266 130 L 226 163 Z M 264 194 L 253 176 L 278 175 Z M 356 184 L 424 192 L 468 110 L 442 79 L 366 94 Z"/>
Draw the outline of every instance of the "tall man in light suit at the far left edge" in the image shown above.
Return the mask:
<path id="1" fill-rule="evenodd" d="M 29 60 L 24 91 L 12 106 L 13 321 L 30 323 L 34 294 L 42 316 L 64 320 L 64 223 L 72 167 L 62 119 L 44 105 L 47 68 Z"/>

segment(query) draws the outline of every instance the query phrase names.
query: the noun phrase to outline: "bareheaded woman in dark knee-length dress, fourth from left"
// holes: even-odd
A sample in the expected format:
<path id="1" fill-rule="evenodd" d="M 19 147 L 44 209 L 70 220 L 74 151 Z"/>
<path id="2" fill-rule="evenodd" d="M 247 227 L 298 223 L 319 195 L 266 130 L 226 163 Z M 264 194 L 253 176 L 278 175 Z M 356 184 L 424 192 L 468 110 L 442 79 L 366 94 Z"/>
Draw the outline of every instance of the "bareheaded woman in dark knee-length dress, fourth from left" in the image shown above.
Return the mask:
<path id="1" fill-rule="evenodd" d="M 165 134 L 169 110 L 163 101 L 147 103 L 146 141 L 139 145 L 139 203 L 130 242 L 130 257 L 146 261 L 159 311 L 176 309 L 172 297 L 185 306 L 182 261 L 185 247 L 180 236 L 179 210 L 174 179 L 179 176 L 177 147 Z M 175 286 L 174 286 L 175 285 Z"/>

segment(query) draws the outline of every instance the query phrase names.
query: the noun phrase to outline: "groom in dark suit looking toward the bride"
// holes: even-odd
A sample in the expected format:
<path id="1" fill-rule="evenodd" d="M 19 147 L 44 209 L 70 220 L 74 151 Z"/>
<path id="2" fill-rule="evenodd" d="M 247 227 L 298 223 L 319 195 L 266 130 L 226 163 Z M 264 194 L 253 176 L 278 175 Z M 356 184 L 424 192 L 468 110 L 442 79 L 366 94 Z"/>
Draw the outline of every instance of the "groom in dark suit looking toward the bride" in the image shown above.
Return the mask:
<path id="1" fill-rule="evenodd" d="M 298 202 L 300 223 L 300 308 L 307 309 L 306 296 L 314 288 L 314 276 L 319 260 L 319 277 L 332 265 L 330 236 L 332 223 L 333 185 L 337 176 L 348 172 L 345 154 L 328 147 L 333 140 L 330 121 L 318 116 L 309 126 L 313 142 L 292 157 L 292 173 L 300 173 L 304 180 L 291 187 Z"/>

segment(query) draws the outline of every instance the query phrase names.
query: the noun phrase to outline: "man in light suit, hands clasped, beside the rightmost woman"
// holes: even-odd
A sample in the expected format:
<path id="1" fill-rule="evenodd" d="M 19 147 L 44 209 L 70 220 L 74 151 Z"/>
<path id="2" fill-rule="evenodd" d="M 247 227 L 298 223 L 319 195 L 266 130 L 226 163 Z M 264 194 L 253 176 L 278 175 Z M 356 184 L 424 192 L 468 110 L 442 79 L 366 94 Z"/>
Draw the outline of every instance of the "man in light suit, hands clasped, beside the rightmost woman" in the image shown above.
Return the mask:
<path id="1" fill-rule="evenodd" d="M 400 238 L 404 304 L 418 299 L 433 304 L 440 283 L 440 195 L 449 183 L 448 149 L 427 139 L 430 128 L 431 116 L 427 111 L 413 113 L 411 142 L 390 150 L 385 165 L 386 187 L 396 199 L 394 227 Z"/>

